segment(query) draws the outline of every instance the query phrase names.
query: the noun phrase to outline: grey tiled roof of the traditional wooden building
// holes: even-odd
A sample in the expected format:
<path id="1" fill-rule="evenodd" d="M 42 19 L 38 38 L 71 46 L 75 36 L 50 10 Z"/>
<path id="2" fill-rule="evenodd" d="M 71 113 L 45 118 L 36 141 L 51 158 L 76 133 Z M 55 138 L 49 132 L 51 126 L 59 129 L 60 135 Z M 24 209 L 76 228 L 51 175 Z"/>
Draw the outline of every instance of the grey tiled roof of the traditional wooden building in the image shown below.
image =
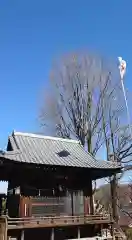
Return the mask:
<path id="1" fill-rule="evenodd" d="M 9 144 L 13 151 L 6 152 L 4 157 L 17 162 L 95 169 L 120 168 L 114 163 L 95 160 L 75 140 L 14 132 L 9 137 Z"/>

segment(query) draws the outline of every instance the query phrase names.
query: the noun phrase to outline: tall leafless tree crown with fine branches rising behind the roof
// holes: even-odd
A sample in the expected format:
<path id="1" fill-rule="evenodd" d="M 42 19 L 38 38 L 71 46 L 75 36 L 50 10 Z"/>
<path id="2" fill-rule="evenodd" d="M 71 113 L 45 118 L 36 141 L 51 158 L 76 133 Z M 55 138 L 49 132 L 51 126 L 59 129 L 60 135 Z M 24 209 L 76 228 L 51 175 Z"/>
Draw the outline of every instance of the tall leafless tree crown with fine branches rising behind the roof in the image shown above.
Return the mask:
<path id="1" fill-rule="evenodd" d="M 51 72 L 48 101 L 41 112 L 54 134 L 77 138 L 92 154 L 101 147 L 124 160 L 132 154 L 125 102 L 117 67 L 90 54 L 72 54 L 61 59 Z"/>

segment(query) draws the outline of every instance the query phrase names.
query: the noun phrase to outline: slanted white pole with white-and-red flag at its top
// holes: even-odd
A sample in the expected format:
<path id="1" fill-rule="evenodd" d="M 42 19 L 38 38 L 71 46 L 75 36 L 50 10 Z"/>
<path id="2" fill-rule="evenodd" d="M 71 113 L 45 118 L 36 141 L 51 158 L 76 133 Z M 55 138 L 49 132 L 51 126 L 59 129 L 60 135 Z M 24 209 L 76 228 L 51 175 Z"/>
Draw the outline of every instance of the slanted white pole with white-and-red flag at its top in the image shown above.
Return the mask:
<path id="1" fill-rule="evenodd" d="M 128 126 L 129 126 L 129 131 L 130 131 L 130 137 L 132 139 L 131 119 L 130 119 L 130 113 L 129 113 L 128 102 L 127 102 L 127 96 L 126 96 L 126 91 L 125 91 L 125 86 L 124 86 L 124 75 L 125 75 L 125 72 L 126 72 L 126 62 L 121 57 L 119 57 L 118 60 L 120 62 L 120 65 L 119 65 L 120 80 L 121 80 L 121 86 L 122 86 L 122 91 L 123 91 L 125 105 L 126 105 Z"/>

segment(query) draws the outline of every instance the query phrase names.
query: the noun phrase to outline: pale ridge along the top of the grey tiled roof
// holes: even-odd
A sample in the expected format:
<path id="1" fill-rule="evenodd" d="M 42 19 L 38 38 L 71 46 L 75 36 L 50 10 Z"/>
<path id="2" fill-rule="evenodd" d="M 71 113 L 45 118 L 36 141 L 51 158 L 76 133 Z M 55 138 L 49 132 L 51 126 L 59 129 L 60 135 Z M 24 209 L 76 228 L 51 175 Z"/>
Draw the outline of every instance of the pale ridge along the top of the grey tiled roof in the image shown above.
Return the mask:
<path id="1" fill-rule="evenodd" d="M 70 142 L 70 143 L 80 143 L 80 141 L 78 141 L 78 140 L 59 138 L 59 137 L 51 137 L 51 136 L 45 136 L 45 135 L 35 134 L 35 133 L 13 131 L 13 135 L 14 136 L 25 136 L 25 137 L 31 137 L 31 138 L 41 138 L 41 139 L 45 139 L 45 140 L 47 139 L 47 140 L 54 140 L 54 141 Z"/>

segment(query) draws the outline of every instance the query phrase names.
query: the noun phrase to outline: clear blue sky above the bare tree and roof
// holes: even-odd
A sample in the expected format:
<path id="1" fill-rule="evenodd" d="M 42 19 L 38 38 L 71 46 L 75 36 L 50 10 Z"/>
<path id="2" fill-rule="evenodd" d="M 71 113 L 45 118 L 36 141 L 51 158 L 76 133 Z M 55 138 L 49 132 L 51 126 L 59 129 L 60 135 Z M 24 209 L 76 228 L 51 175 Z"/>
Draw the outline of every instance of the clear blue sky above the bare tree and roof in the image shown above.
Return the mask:
<path id="1" fill-rule="evenodd" d="M 0 1 L 0 147 L 17 131 L 39 131 L 42 89 L 52 61 L 90 49 L 128 61 L 131 88 L 132 1 Z"/>

